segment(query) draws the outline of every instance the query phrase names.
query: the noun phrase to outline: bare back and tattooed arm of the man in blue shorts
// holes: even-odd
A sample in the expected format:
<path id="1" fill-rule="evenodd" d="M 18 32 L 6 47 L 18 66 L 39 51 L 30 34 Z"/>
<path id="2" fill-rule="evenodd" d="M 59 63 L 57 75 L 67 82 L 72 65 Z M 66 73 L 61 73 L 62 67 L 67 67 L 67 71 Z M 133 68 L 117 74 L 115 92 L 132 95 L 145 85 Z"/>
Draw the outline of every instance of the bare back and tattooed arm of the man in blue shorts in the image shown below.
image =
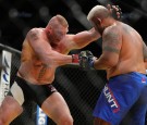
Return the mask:
<path id="1" fill-rule="evenodd" d="M 130 72 L 145 74 L 143 39 L 135 29 L 117 21 L 105 29 L 102 40 L 102 54 L 95 68 L 107 70 L 108 79 Z"/>

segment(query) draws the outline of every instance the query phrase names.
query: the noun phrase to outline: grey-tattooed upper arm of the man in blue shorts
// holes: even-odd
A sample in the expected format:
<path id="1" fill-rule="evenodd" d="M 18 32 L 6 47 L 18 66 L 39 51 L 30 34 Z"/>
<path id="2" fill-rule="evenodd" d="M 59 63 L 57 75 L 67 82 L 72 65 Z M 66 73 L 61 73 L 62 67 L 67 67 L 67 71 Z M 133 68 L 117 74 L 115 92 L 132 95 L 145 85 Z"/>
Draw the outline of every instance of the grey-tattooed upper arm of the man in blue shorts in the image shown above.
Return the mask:
<path id="1" fill-rule="evenodd" d="M 103 51 L 110 51 L 110 52 L 120 52 L 120 37 L 117 32 L 109 32 L 103 36 L 103 41 L 102 41 L 102 50 Z"/>

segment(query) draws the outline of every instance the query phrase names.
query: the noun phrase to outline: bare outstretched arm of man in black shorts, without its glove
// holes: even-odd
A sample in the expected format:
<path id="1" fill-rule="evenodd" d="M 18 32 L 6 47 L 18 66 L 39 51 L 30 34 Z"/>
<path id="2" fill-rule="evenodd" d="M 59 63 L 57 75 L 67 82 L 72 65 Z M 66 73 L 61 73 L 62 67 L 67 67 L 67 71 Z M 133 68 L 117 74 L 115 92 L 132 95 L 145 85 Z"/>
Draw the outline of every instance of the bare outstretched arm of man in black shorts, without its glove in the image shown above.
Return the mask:
<path id="1" fill-rule="evenodd" d="M 100 37 L 100 34 L 96 32 L 95 28 L 91 28 L 90 30 L 81 32 L 75 35 L 69 35 L 70 42 L 66 46 L 70 50 L 81 49 Z"/>

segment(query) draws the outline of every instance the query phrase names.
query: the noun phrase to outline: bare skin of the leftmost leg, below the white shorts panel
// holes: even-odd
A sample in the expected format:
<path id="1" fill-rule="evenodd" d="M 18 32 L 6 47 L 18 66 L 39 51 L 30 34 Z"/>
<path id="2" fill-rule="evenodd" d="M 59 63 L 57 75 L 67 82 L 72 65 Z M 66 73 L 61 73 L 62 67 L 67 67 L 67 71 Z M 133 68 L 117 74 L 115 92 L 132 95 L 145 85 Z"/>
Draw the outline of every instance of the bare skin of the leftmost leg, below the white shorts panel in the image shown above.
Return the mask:
<path id="1" fill-rule="evenodd" d="M 0 125 L 9 125 L 22 112 L 20 103 L 12 96 L 7 96 L 0 107 Z"/>

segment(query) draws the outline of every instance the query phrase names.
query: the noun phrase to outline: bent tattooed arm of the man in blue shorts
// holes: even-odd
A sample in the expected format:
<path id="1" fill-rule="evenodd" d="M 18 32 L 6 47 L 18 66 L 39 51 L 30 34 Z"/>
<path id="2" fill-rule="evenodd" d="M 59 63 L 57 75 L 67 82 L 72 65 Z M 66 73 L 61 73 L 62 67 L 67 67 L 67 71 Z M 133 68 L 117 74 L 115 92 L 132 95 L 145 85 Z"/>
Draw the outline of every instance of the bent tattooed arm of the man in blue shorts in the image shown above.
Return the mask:
<path id="1" fill-rule="evenodd" d="M 115 27 L 107 29 L 103 33 L 102 40 L 102 54 L 94 63 L 94 67 L 97 70 L 107 70 L 114 66 L 119 61 L 122 46 L 120 34 Z"/>

